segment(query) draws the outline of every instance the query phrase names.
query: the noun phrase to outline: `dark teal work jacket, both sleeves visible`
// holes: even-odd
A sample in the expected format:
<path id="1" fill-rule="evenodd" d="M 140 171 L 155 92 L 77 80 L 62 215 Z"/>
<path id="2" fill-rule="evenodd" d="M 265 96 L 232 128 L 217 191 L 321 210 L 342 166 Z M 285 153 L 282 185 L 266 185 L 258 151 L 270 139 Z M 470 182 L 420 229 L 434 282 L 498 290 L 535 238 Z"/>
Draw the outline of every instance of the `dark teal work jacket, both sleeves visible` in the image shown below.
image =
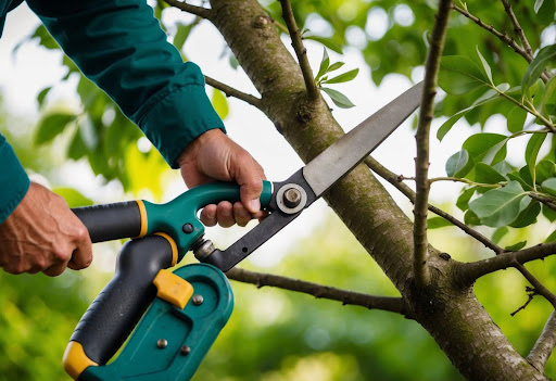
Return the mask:
<path id="1" fill-rule="evenodd" d="M 8 12 L 23 0 L 0 0 L 0 36 Z M 176 168 L 199 135 L 224 130 L 204 77 L 166 41 L 146 0 L 27 0 L 81 72 L 102 88 Z M 40 66 L 37 67 L 40 69 Z M 22 201 L 29 179 L 0 135 L 0 224 Z"/>

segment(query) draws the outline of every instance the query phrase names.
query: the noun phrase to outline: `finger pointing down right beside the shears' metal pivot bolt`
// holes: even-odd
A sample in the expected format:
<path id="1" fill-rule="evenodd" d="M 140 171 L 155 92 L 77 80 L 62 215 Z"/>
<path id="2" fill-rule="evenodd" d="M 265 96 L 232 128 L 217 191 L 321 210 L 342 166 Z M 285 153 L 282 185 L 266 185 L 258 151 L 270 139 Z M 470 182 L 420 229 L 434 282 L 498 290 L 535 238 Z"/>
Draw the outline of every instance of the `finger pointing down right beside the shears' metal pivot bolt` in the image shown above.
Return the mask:
<path id="1" fill-rule="evenodd" d="M 247 151 L 238 156 L 239 158 L 233 162 L 236 175 L 235 180 L 240 186 L 240 199 L 245 208 L 250 213 L 257 213 L 261 209 L 261 202 L 258 198 L 263 191 L 263 180 L 258 165 Z"/>

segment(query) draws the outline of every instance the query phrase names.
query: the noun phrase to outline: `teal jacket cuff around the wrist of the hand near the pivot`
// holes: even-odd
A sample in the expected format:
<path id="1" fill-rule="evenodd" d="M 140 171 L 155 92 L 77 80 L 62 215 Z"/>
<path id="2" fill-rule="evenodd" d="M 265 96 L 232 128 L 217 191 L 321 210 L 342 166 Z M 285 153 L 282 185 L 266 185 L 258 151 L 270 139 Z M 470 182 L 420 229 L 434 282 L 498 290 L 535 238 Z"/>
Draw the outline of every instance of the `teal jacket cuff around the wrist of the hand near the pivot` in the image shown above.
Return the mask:
<path id="1" fill-rule="evenodd" d="M 173 86 L 153 98 L 137 125 L 175 169 L 176 160 L 197 137 L 215 128 L 226 132 L 206 96 L 204 81 Z"/>

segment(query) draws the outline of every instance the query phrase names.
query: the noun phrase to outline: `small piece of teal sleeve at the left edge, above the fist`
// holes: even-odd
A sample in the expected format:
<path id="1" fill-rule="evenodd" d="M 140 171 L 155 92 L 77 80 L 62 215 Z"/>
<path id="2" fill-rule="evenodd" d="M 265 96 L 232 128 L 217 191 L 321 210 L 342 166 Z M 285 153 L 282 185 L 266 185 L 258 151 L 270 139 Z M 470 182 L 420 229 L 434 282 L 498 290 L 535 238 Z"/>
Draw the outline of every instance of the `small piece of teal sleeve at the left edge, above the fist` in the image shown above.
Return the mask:
<path id="1" fill-rule="evenodd" d="M 0 224 L 15 209 L 29 189 L 29 178 L 12 147 L 0 134 Z"/>

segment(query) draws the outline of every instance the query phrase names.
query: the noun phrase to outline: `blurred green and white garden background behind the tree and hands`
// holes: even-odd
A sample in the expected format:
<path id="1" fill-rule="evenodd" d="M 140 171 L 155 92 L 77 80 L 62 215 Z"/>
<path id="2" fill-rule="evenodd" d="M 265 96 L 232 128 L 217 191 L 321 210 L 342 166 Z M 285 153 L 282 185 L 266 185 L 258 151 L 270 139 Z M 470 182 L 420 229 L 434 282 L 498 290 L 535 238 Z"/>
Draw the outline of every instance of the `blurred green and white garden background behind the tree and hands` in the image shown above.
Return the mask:
<path id="1" fill-rule="evenodd" d="M 277 2 L 263 3 L 276 12 Z M 166 27 L 168 40 L 185 59 L 198 63 L 215 79 L 256 93 L 242 69 L 235 67 L 233 56 L 210 23 L 164 9 L 161 3 L 152 5 Z M 432 25 L 434 11 L 430 4 L 410 8 L 397 1 L 330 1 L 323 5 L 320 14 L 313 1 L 294 5 L 315 36 L 338 39 L 339 25 L 343 26 L 339 41 L 343 53 L 327 50 L 332 62 L 345 62 L 346 69 L 359 68 L 356 80 L 334 86 L 356 105 L 333 110 L 345 130 L 422 78 L 426 42 L 420 33 Z M 71 206 L 134 198 L 163 202 L 185 191 L 179 174 L 167 167 L 103 92 L 76 72 L 39 25 L 22 4 L 9 14 L 0 39 L 0 131 L 14 147 L 31 179 L 63 195 Z M 554 24 L 546 30 L 543 38 L 554 39 Z M 413 62 L 403 63 L 404 58 L 397 56 L 397 61 L 377 63 L 372 50 L 381 49 L 380 43 L 390 47 L 389 41 L 395 38 L 400 43 L 412 41 L 404 51 Z M 283 40 L 290 48 L 288 37 Z M 314 40 L 305 43 L 312 66 L 318 68 L 324 46 Z M 251 152 L 270 180 L 281 180 L 303 165 L 261 112 L 208 87 L 207 93 L 225 119 L 229 136 Z M 440 100 L 442 97 L 441 93 Z M 443 120 L 445 117 L 435 120 L 433 128 Z M 413 176 L 414 123 L 415 118 L 409 119 L 374 154 L 396 174 Z M 432 177 L 444 176 L 447 157 L 458 151 L 467 136 L 481 129 L 466 120 L 457 126 L 442 143 L 431 139 Z M 483 128 L 506 131 L 505 126 L 506 119 L 494 115 Z M 510 156 L 525 148 L 525 142 L 515 140 L 508 150 Z M 515 161 L 521 158 L 517 156 Z M 410 215 L 410 204 L 386 186 Z M 454 183 L 434 185 L 431 201 L 462 217 L 454 205 L 460 188 Z M 226 230 L 210 228 L 207 237 L 226 247 L 253 224 Z M 492 232 L 489 228 L 483 230 Z M 552 230 L 554 226 L 540 217 L 534 229 L 511 229 L 504 240 L 506 244 L 535 242 Z M 458 261 L 491 255 L 454 227 L 431 230 L 430 241 Z M 68 379 L 61 363 L 65 345 L 87 306 L 112 277 L 121 245 L 122 242 L 97 244 L 90 268 L 66 271 L 54 279 L 0 271 L 0 380 Z M 180 265 L 192 261 L 188 255 Z M 242 267 L 377 295 L 399 295 L 324 201 L 261 247 Z M 548 257 L 528 268 L 549 289 L 556 289 L 556 280 L 551 277 L 556 270 L 555 259 Z M 510 317 L 528 299 L 526 285 L 513 269 L 482 278 L 476 285 L 480 301 L 523 355 L 551 313 L 549 304 L 535 297 L 523 312 Z M 232 287 L 235 312 L 194 380 L 462 380 L 429 334 L 401 316 L 282 290 L 238 282 Z M 556 377 L 554 360 L 548 363 L 547 374 Z"/>

